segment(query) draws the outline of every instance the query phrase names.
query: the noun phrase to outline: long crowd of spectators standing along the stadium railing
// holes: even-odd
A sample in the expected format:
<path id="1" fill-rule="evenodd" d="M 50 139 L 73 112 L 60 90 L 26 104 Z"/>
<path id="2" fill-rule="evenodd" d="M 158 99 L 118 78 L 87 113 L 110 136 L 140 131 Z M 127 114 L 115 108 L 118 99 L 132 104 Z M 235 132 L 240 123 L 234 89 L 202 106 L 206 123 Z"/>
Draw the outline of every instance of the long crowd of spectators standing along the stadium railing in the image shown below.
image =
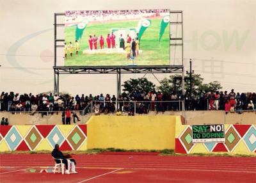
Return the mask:
<path id="1" fill-rule="evenodd" d="M 42 116 L 47 115 L 47 112 L 70 110 L 70 113 L 76 115 L 76 111 L 88 113 L 93 110 L 95 114 L 100 113 L 115 113 L 116 111 L 127 112 L 129 115 L 136 113 L 148 113 L 149 110 L 158 112 L 164 111 L 179 111 L 182 110 L 182 101 L 184 101 L 185 110 L 225 110 L 226 113 L 237 111 L 242 113 L 244 110 L 256 109 L 256 93 L 235 93 L 231 90 L 230 93 L 225 92 L 209 92 L 193 95 L 189 93 L 185 95 L 177 95 L 170 93 L 168 95 L 161 92 L 143 91 L 133 92 L 132 95 L 123 93 L 117 98 L 107 94 L 93 96 L 90 95 L 52 95 L 52 93 L 40 93 L 38 95 L 7 93 L 2 92 L 0 96 L 0 110 L 10 111 L 13 114 L 21 111 L 29 112 L 34 115 L 36 111 L 42 112 Z M 93 107 L 91 109 L 90 107 Z M 135 108 L 134 108 L 135 107 Z M 77 120 L 78 117 L 77 117 Z"/>

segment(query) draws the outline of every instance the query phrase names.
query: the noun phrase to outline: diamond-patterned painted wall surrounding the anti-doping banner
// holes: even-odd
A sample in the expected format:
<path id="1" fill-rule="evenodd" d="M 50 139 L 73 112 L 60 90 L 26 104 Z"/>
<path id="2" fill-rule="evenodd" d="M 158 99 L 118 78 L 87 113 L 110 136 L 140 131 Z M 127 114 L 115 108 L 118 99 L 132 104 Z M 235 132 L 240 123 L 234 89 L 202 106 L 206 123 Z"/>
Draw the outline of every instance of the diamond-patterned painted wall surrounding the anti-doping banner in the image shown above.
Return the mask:
<path id="1" fill-rule="evenodd" d="M 191 128 L 176 122 L 176 153 L 256 154 L 256 125 L 225 125 L 225 143 L 192 143 Z"/>

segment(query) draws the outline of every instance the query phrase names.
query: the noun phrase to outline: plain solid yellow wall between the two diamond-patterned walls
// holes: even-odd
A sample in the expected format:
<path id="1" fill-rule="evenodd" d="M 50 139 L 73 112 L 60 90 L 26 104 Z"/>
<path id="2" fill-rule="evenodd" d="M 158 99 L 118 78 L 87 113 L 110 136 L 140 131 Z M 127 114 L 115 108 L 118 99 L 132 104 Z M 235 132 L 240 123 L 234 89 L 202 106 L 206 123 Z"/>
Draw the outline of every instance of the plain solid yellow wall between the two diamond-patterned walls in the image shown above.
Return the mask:
<path id="1" fill-rule="evenodd" d="M 176 116 L 92 116 L 87 123 L 88 149 L 175 148 Z"/>

